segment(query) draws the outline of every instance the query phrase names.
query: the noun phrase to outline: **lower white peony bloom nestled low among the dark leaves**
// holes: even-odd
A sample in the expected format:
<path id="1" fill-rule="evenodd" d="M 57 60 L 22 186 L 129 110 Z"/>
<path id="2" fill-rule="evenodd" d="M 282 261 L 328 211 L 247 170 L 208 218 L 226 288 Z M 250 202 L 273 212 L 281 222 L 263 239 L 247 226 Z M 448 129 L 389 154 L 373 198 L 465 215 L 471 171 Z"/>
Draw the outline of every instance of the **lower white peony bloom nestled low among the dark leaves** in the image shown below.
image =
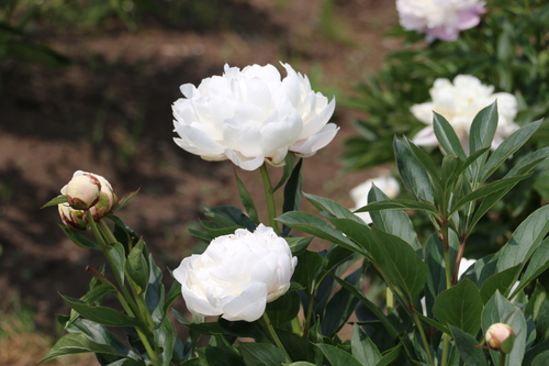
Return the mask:
<path id="1" fill-rule="evenodd" d="M 214 239 L 173 270 L 190 312 L 253 322 L 288 291 L 298 257 L 287 241 L 260 224 Z"/>

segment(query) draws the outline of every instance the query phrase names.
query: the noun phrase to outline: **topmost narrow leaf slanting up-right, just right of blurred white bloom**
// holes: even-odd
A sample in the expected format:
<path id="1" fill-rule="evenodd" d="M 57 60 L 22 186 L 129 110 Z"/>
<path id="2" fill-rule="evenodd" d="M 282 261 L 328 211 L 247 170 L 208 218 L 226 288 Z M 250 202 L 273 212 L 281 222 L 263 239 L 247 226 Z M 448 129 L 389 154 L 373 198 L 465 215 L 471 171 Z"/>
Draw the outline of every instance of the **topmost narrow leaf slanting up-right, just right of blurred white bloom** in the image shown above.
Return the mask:
<path id="1" fill-rule="evenodd" d="M 515 154 L 539 129 L 541 122 L 542 120 L 529 123 L 505 138 L 482 168 L 481 181 L 485 181 L 511 155 Z"/>

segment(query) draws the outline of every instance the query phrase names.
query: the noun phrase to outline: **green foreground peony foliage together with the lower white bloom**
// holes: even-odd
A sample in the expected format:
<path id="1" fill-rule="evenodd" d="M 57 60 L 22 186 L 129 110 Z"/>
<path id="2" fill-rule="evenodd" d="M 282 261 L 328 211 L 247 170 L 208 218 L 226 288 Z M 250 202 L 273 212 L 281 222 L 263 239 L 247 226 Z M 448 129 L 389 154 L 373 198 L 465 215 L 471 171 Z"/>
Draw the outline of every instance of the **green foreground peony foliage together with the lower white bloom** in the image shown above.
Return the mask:
<path id="1" fill-rule="evenodd" d="M 191 231 L 208 247 L 170 268 L 175 279 L 163 278 L 144 239 L 114 214 L 136 192 L 93 217 L 104 212 L 94 210 L 97 182 L 78 178 L 75 190 L 46 206 L 78 211 L 80 228 L 66 223 L 63 230 L 75 244 L 102 252 L 107 266 L 87 268 L 90 288 L 81 298 L 63 296 L 71 312 L 58 321 L 68 334 L 43 361 L 92 352 L 111 366 L 545 363 L 549 207 L 526 217 L 493 253 L 463 259 L 481 218 L 549 157 L 545 147 L 509 160 L 542 121 L 492 149 L 498 120 L 495 102 L 483 108 L 466 151 L 452 124 L 435 114 L 435 135 L 447 153 L 441 160 L 396 136 L 395 163 L 408 198 L 391 199 L 389 189 L 372 184 L 368 204 L 355 212 L 302 192 L 301 153 L 289 148 L 277 185 L 268 174 L 276 167 L 264 157 L 266 210 L 236 176 L 243 208 L 208 210 L 202 230 Z M 192 132 L 182 138 L 192 142 Z M 494 177 L 501 169 L 505 175 Z M 300 211 L 302 198 L 318 214 Z M 429 222 L 427 235 L 414 226 L 417 215 Z M 165 281 L 171 281 L 168 290 Z M 175 306 L 180 297 L 189 312 Z"/>

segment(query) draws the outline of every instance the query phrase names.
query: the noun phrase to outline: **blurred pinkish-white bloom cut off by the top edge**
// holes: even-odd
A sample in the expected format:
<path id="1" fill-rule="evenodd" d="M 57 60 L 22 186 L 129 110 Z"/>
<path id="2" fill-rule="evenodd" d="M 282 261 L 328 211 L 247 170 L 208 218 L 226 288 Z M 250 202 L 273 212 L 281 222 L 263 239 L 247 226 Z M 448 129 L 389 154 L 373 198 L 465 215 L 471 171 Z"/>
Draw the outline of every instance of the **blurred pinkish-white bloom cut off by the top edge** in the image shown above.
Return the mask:
<path id="1" fill-rule="evenodd" d="M 460 31 L 479 24 L 484 4 L 480 0 L 396 0 L 396 10 L 402 27 L 425 33 L 427 42 L 456 41 Z"/>

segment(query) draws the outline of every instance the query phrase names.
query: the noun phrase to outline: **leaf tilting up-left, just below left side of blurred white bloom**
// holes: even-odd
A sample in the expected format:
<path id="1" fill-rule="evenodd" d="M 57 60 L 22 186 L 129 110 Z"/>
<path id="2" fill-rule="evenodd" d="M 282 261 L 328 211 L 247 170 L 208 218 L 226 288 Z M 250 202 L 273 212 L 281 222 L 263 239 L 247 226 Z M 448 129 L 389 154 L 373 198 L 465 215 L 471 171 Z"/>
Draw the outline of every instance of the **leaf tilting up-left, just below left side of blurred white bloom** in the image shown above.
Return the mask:
<path id="1" fill-rule="evenodd" d="M 433 190 L 427 170 L 415 157 L 407 140 L 393 141 L 396 166 L 404 186 L 419 200 L 433 202 Z"/>

